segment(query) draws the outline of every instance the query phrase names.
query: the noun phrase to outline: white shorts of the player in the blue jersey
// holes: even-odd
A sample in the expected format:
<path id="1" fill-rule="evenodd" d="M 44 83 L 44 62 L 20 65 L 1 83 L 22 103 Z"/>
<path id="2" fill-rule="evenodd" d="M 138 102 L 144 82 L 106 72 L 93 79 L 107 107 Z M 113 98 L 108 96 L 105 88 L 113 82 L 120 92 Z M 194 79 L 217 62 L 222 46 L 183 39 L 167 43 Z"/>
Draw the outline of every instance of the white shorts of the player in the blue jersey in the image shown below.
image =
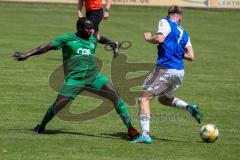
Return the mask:
<path id="1" fill-rule="evenodd" d="M 159 69 L 157 67 L 144 80 L 143 89 L 154 96 L 172 98 L 184 78 L 184 70 Z"/>

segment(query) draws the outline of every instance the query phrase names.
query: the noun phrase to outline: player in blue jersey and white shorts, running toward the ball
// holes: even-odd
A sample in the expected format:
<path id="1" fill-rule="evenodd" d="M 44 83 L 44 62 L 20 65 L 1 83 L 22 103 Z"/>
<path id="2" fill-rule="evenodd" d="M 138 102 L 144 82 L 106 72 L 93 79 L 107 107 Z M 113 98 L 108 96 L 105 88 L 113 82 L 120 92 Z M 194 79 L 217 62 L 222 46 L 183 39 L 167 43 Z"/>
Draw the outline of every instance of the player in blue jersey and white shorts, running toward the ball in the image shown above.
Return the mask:
<path id="1" fill-rule="evenodd" d="M 154 70 L 145 79 L 143 93 L 139 98 L 140 125 L 142 134 L 132 141 L 151 144 L 150 137 L 150 101 L 157 96 L 161 104 L 186 109 L 197 120 L 202 114 L 196 104 L 188 104 L 173 96 L 184 77 L 183 60 L 193 61 L 194 52 L 187 32 L 180 26 L 182 9 L 170 6 L 168 16 L 160 20 L 156 36 L 144 33 L 145 40 L 158 44 L 158 58 Z"/>

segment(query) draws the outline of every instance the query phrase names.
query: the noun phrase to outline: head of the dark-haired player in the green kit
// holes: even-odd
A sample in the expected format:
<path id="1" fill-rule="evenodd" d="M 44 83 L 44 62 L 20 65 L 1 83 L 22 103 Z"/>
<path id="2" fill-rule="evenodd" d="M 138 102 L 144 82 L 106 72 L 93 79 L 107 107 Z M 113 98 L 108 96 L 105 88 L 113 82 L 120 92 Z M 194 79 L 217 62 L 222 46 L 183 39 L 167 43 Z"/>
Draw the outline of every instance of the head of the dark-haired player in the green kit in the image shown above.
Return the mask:
<path id="1" fill-rule="evenodd" d="M 82 38 L 89 38 L 94 32 L 93 23 L 86 17 L 79 18 L 77 21 L 77 33 Z"/>

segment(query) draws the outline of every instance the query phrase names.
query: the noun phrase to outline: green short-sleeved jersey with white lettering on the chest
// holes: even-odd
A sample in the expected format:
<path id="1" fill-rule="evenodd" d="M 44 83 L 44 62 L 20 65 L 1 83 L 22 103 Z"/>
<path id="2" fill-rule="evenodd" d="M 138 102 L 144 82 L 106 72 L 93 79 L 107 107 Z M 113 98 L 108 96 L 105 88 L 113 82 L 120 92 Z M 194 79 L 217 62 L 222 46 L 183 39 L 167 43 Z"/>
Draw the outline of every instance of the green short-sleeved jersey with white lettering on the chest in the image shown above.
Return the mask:
<path id="1" fill-rule="evenodd" d="M 62 49 L 66 78 L 93 79 L 99 72 L 95 65 L 97 41 L 93 36 L 86 40 L 75 33 L 64 34 L 50 43 L 55 49 Z"/>

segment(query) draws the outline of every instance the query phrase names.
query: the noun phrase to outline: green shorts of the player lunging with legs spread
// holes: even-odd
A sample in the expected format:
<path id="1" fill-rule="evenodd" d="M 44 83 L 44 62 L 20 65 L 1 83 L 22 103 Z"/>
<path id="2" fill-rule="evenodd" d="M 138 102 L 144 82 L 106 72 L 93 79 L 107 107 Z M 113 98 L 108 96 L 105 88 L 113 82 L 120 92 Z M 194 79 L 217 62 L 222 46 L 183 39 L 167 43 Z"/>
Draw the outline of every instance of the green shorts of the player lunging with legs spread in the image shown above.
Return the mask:
<path id="1" fill-rule="evenodd" d="M 65 80 L 65 83 L 61 87 L 58 94 L 74 100 L 77 97 L 77 95 L 81 92 L 81 90 L 84 89 L 85 87 L 99 90 L 108 83 L 109 83 L 108 78 L 101 73 L 98 73 L 98 75 L 92 82 L 82 80 L 81 78 L 77 79 L 69 77 Z"/>

